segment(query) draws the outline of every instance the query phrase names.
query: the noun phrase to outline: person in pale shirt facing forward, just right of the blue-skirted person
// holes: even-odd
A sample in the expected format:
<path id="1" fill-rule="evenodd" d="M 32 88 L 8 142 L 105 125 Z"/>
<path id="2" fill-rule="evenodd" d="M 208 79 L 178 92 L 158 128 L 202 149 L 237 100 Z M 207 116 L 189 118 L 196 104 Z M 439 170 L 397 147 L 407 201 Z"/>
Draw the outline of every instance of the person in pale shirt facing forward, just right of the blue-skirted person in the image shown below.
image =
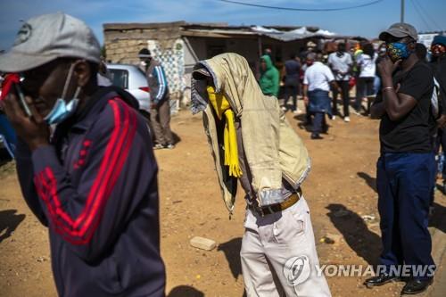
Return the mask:
<path id="1" fill-rule="evenodd" d="M 343 90 L 341 92 L 343 96 L 343 120 L 350 121 L 350 86 L 349 80 L 351 77 L 351 65 L 353 61 L 351 55 L 345 51 L 345 44 L 340 43 L 337 45 L 337 52 L 328 55 L 328 65 L 330 66 L 333 74 L 335 75 L 336 84 Z M 333 118 L 338 114 L 337 111 L 337 90 L 333 91 Z"/>

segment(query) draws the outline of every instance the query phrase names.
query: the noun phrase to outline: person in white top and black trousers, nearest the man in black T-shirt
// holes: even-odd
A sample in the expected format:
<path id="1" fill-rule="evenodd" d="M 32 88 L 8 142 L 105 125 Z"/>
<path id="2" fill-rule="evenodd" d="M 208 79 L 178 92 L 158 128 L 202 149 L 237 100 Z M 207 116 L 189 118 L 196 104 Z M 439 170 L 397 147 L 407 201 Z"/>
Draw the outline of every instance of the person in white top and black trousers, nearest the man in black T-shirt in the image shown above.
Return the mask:
<path id="1" fill-rule="evenodd" d="M 356 96 L 355 110 L 359 113 L 361 111 L 361 103 L 367 100 L 368 96 L 374 95 L 373 83 L 376 75 L 376 58 L 373 45 L 364 45 L 363 53 L 359 54 L 356 62 L 359 66 L 358 78 L 358 95 Z"/>

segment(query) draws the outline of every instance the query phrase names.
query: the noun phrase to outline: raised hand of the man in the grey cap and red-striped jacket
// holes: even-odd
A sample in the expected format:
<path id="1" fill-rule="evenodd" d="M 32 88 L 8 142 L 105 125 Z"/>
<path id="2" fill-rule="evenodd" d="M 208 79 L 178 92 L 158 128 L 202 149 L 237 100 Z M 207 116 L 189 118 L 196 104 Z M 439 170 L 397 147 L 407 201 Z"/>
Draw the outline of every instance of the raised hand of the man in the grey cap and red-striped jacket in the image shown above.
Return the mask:
<path id="1" fill-rule="evenodd" d="M 29 104 L 31 117 L 27 117 L 25 112 L 22 111 L 19 98 L 15 94 L 7 95 L 2 105 L 17 135 L 28 144 L 31 151 L 34 151 L 40 146 L 49 144 L 50 129 L 36 110 L 32 99 L 29 96 L 25 96 L 25 99 Z"/>

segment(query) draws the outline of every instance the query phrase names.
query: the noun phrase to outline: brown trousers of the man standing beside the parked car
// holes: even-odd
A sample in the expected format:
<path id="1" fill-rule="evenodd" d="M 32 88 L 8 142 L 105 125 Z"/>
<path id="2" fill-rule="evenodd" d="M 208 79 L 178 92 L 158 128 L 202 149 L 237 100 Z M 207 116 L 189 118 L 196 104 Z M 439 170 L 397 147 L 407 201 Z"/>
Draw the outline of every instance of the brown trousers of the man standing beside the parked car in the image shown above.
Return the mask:
<path id="1" fill-rule="evenodd" d="M 170 104 L 169 98 L 162 99 L 155 108 L 150 111 L 153 134 L 157 144 L 173 144 L 173 136 L 170 131 Z"/>

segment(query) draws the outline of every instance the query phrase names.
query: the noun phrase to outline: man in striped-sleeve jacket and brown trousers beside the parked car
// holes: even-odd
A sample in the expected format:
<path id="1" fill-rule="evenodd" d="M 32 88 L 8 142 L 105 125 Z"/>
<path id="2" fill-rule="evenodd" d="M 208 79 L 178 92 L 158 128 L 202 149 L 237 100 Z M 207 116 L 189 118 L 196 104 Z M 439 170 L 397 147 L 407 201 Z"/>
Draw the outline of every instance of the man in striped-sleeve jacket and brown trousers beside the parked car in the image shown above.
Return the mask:
<path id="1" fill-rule="evenodd" d="M 152 99 L 150 121 L 152 122 L 156 142 L 153 148 L 155 150 L 173 149 L 175 145 L 170 131 L 169 87 L 166 74 L 161 63 L 153 59 L 148 49 L 141 49 L 138 57 L 145 68 L 145 76 Z"/>

